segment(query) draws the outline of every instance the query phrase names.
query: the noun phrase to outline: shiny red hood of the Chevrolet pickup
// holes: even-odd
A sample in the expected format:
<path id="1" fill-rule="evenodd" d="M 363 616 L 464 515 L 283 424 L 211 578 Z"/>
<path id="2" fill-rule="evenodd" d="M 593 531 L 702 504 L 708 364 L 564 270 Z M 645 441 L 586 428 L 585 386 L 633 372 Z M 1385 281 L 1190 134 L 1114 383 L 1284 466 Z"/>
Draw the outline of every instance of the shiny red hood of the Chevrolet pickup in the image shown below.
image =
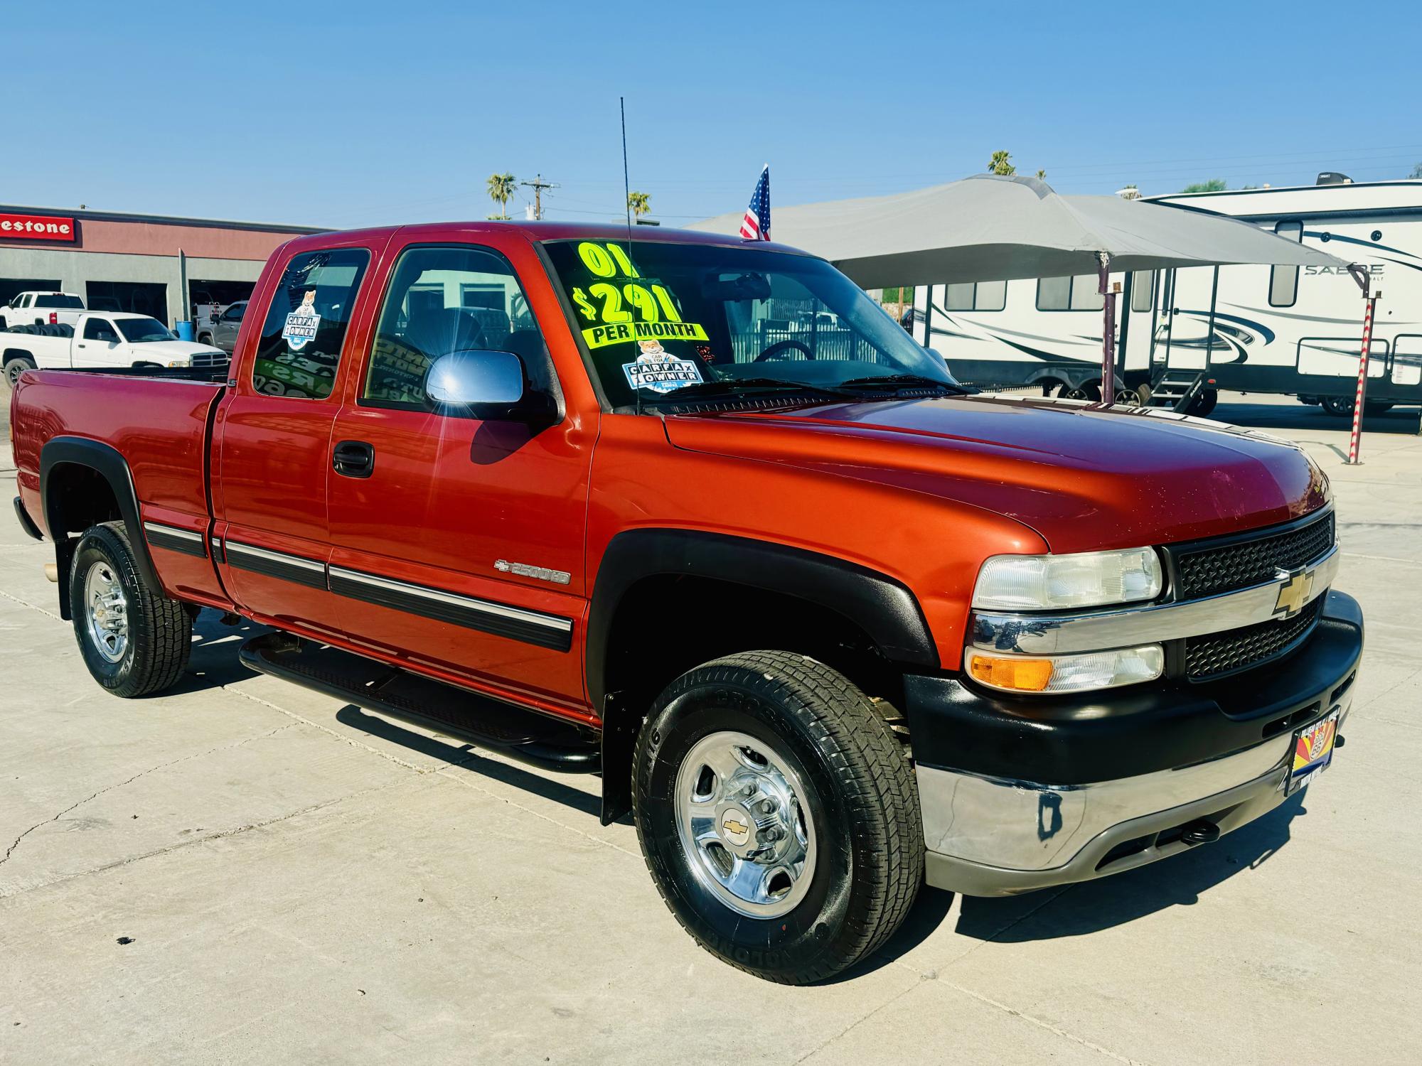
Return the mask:
<path id="1" fill-rule="evenodd" d="M 1322 470 L 1293 443 L 1155 408 L 987 397 L 849 401 L 673 415 L 665 428 L 675 448 L 1005 515 L 1055 553 L 1236 533 L 1328 500 Z"/>

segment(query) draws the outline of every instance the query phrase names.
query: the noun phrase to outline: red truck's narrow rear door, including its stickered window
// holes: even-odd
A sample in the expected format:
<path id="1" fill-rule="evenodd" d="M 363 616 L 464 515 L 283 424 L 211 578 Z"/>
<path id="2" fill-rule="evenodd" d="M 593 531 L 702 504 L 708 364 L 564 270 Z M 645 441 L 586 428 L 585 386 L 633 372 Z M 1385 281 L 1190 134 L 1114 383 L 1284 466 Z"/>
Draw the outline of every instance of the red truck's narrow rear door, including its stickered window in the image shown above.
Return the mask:
<path id="1" fill-rule="evenodd" d="M 297 249 L 253 300 L 262 325 L 245 337 L 215 428 L 215 554 L 253 614 L 338 635 L 340 604 L 326 587 L 330 438 L 348 325 L 380 247 L 353 239 Z"/>

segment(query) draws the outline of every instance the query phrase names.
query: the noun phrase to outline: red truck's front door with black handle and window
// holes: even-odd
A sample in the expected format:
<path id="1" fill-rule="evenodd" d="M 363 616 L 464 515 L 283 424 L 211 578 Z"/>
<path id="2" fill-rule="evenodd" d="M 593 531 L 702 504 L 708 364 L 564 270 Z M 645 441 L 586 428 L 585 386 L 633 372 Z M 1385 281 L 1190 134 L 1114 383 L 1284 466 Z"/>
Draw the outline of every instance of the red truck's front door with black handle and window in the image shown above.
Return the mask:
<path id="1" fill-rule="evenodd" d="M 510 253 L 530 257 L 522 242 Z M 410 243 L 388 257 L 373 340 L 330 442 L 330 574 L 348 632 L 495 695 L 584 709 L 574 632 L 596 424 L 432 409 L 429 367 L 481 348 L 519 355 L 529 389 L 562 404 L 503 252 Z"/>

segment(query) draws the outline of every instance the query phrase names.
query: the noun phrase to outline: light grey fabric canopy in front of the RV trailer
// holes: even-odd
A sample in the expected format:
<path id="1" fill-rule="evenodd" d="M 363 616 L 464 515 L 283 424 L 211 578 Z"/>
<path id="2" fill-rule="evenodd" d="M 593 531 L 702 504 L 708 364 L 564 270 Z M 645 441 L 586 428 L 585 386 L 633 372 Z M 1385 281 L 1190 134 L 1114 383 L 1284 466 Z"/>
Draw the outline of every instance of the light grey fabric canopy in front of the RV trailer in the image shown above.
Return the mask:
<path id="1" fill-rule="evenodd" d="M 728 235 L 739 227 L 739 213 L 691 226 Z M 1106 294 L 1103 397 L 1115 395 L 1112 270 L 1347 266 L 1239 219 L 1118 196 L 1064 196 L 1037 178 L 988 173 L 892 196 L 776 208 L 772 237 L 828 259 L 865 289 L 1095 273 Z"/>

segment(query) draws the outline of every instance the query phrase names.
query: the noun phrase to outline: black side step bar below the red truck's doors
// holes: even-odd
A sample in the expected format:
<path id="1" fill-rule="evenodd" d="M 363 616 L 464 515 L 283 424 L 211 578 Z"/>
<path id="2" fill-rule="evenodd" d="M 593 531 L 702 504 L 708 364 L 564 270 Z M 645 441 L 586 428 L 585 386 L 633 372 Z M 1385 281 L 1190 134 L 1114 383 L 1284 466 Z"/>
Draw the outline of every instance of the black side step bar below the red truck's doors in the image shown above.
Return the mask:
<path id="1" fill-rule="evenodd" d="M 242 662 L 367 711 L 559 773 L 597 773 L 597 736 L 572 722 L 286 632 L 253 637 Z"/>

